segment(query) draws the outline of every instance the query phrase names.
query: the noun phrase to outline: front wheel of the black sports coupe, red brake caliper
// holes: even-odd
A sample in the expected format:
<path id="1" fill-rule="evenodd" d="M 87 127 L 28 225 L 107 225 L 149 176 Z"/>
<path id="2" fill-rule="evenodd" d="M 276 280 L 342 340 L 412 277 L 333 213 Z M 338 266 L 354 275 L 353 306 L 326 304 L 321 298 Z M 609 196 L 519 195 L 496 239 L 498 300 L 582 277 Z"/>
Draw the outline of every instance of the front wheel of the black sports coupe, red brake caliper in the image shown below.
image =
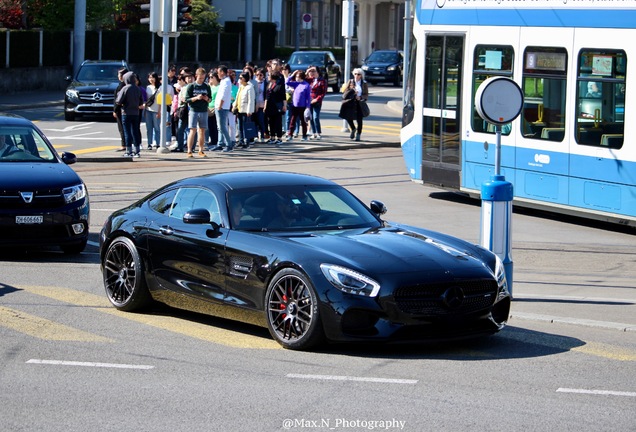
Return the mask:
<path id="1" fill-rule="evenodd" d="M 267 327 L 284 348 L 306 350 L 324 340 L 318 297 L 308 278 L 295 269 L 278 272 L 265 294 Z"/>

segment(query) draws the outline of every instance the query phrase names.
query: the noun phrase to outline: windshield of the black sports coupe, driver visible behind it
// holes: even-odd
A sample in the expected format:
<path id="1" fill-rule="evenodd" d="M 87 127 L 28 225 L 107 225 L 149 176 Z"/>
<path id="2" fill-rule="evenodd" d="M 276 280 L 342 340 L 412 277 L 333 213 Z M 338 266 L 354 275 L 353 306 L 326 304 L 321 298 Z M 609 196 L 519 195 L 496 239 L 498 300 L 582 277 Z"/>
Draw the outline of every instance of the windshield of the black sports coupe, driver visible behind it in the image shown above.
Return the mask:
<path id="1" fill-rule="evenodd" d="M 377 228 L 380 221 L 339 186 L 281 186 L 229 192 L 232 228 L 313 231 Z"/>

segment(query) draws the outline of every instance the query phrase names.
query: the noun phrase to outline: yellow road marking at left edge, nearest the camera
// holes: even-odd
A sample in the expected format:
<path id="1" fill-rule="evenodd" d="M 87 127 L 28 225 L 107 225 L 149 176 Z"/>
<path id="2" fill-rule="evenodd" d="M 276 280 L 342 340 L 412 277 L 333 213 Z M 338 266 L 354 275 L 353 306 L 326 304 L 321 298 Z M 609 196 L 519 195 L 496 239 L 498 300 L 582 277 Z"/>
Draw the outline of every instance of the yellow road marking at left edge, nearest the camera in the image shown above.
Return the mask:
<path id="1" fill-rule="evenodd" d="M 112 339 L 2 306 L 0 306 L 0 326 L 44 340 L 113 342 Z"/>

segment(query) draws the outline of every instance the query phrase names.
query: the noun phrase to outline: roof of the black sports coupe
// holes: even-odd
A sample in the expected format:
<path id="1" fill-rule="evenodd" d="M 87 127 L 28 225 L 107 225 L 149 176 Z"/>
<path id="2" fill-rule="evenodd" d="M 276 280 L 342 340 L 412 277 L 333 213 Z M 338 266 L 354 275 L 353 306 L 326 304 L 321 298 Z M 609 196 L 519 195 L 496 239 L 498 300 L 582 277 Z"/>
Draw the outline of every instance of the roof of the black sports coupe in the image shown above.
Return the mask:
<path id="1" fill-rule="evenodd" d="M 226 189 L 268 188 L 291 185 L 336 186 L 336 183 L 321 177 L 281 171 L 235 171 L 215 173 L 199 177 L 189 177 L 178 182 L 180 184 L 212 183 L 223 185 Z"/>

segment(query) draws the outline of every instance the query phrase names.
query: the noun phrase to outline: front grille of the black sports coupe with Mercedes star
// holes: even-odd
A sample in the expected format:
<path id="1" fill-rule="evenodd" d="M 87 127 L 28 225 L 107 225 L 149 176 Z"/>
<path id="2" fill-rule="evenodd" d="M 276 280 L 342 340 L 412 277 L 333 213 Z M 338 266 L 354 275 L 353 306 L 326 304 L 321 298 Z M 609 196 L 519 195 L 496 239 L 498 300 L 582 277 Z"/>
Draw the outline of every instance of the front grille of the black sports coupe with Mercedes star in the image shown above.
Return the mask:
<path id="1" fill-rule="evenodd" d="M 419 284 L 394 293 L 400 311 L 423 317 L 467 314 L 493 305 L 497 283 L 490 280 Z"/>

